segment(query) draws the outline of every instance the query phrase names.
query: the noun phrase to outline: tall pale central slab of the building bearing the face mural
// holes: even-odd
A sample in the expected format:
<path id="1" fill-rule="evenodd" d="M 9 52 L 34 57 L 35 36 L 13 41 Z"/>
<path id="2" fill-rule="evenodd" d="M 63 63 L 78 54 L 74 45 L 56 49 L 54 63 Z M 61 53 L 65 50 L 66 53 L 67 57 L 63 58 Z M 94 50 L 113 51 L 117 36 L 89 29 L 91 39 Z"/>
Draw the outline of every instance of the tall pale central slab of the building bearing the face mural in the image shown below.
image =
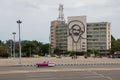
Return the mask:
<path id="1" fill-rule="evenodd" d="M 67 50 L 76 52 L 87 51 L 86 16 L 68 17 Z"/>

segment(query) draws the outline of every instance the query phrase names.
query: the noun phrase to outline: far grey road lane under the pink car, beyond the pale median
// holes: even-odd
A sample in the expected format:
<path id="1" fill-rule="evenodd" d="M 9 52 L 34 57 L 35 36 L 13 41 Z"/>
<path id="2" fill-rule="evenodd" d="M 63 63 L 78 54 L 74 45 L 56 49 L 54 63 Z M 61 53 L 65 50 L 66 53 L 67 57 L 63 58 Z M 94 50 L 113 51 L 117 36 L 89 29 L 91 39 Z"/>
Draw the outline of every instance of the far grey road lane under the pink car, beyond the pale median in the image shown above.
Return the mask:
<path id="1" fill-rule="evenodd" d="M 12 71 L 12 70 L 63 70 L 63 69 L 119 69 L 120 64 L 107 64 L 107 65 L 63 65 L 63 66 L 55 66 L 55 67 L 40 67 L 37 66 L 0 66 L 0 71 Z"/>

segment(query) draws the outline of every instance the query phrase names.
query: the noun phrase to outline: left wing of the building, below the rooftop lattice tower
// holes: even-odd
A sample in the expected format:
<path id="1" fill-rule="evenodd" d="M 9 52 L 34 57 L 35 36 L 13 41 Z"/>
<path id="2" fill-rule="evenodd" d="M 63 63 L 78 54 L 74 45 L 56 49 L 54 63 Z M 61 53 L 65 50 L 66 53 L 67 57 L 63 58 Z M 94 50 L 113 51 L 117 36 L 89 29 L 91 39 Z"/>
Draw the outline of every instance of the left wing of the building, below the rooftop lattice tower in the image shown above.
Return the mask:
<path id="1" fill-rule="evenodd" d="M 67 51 L 67 24 L 64 21 L 51 22 L 51 52 L 55 49 L 60 53 Z"/>

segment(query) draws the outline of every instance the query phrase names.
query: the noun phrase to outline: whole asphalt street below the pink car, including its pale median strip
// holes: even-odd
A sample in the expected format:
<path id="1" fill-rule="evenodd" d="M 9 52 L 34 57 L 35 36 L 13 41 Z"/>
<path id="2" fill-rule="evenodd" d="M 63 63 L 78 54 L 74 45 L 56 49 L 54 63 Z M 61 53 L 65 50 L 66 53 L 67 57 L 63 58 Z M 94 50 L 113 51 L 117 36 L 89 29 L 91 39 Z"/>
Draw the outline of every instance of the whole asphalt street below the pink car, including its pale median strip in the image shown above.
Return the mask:
<path id="1" fill-rule="evenodd" d="M 120 65 L 0 66 L 0 80 L 120 80 Z"/>

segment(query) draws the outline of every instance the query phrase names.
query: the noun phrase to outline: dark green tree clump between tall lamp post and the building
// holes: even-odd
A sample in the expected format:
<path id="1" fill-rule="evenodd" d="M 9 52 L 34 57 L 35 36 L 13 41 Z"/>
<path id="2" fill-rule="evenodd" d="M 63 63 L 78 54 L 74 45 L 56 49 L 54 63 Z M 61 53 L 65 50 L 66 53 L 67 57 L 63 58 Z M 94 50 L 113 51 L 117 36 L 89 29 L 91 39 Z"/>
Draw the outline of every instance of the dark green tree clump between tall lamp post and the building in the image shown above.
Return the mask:
<path id="1" fill-rule="evenodd" d="M 36 40 L 23 41 L 22 53 L 24 53 L 23 56 L 27 57 L 30 57 L 32 55 L 44 55 L 45 53 L 48 53 L 48 45 Z"/>

